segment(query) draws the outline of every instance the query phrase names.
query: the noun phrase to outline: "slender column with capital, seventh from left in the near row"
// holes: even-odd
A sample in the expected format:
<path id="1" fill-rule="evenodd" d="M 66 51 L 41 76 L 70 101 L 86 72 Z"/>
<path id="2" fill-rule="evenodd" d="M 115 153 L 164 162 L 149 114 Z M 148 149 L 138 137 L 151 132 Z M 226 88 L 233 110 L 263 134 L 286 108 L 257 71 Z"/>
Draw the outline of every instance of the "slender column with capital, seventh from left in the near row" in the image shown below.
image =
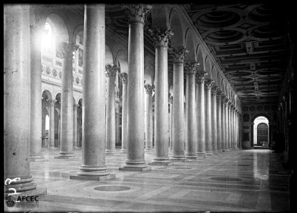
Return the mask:
<path id="1" fill-rule="evenodd" d="M 197 72 L 196 87 L 196 119 L 197 119 L 197 156 L 205 155 L 205 95 L 204 78 L 207 72 L 200 70 Z"/>

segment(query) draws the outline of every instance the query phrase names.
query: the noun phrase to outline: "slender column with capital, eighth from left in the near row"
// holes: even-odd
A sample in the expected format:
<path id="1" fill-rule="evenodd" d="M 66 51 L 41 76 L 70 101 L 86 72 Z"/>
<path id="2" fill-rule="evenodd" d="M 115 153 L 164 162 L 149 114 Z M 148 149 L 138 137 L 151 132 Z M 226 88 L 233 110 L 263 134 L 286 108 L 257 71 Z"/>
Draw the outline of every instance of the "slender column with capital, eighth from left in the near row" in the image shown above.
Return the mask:
<path id="1" fill-rule="evenodd" d="M 211 89 L 212 83 L 214 81 L 211 79 L 206 79 L 204 83 L 205 91 L 205 153 L 207 155 L 212 155 L 212 98 Z"/>

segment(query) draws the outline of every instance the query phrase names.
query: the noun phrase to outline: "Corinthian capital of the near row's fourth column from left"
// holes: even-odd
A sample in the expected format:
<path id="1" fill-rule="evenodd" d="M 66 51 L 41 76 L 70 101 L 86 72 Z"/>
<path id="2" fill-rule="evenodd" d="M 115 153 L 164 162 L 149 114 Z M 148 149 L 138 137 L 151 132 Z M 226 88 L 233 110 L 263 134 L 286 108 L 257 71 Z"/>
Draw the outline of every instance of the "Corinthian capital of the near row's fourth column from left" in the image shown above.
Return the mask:
<path id="1" fill-rule="evenodd" d="M 166 29 L 165 31 L 161 31 L 160 28 L 157 29 L 149 29 L 150 37 L 152 40 L 154 40 L 155 48 L 157 47 L 168 47 L 168 43 L 170 43 L 170 40 L 172 38 L 171 30 Z"/>

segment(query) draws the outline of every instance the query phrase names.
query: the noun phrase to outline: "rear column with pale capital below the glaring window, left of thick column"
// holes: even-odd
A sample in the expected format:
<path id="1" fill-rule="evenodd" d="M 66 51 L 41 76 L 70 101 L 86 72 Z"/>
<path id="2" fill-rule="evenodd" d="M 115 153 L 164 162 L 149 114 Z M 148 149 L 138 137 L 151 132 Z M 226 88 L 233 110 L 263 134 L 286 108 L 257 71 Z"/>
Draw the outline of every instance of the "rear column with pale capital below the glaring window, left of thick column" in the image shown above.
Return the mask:
<path id="1" fill-rule="evenodd" d="M 61 152 L 55 158 L 73 158 L 73 51 L 78 45 L 62 43 L 58 54 L 62 58 L 61 92 Z"/>

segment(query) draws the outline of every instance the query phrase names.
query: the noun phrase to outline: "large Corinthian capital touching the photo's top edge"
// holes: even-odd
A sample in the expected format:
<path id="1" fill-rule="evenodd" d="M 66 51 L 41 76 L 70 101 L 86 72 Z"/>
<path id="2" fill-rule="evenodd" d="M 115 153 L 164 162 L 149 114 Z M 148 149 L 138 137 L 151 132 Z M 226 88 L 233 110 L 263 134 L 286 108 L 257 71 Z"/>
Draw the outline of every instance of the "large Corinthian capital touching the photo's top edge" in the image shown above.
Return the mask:
<path id="1" fill-rule="evenodd" d="M 125 4 L 123 8 L 125 9 L 128 23 L 145 23 L 152 6 L 145 4 Z"/>

